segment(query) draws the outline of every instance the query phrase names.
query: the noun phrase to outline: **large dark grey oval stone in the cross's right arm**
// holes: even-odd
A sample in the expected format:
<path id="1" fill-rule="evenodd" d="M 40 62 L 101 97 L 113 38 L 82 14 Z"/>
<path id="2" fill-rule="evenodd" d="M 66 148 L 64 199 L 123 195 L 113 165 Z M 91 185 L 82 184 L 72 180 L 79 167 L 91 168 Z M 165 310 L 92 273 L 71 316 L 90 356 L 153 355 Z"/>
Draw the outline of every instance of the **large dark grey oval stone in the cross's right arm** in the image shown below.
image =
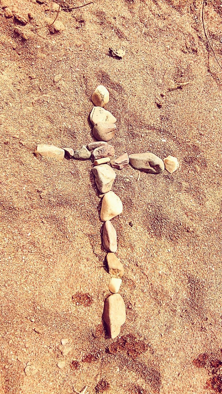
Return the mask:
<path id="1" fill-rule="evenodd" d="M 136 153 L 130 154 L 130 164 L 141 171 L 151 174 L 158 174 L 164 171 L 164 162 L 154 153 Z"/>

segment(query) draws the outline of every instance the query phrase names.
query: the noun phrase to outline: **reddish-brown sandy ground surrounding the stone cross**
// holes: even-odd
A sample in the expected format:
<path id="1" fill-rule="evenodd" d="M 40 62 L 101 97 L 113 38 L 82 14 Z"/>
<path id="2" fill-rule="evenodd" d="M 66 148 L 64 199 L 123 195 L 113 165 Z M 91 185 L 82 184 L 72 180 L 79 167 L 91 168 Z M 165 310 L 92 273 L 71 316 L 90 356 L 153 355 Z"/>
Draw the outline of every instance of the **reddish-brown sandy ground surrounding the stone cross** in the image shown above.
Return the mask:
<path id="1" fill-rule="evenodd" d="M 222 392 L 222 74 L 201 2 L 95 2 L 60 12 L 65 30 L 55 34 L 32 31 L 55 18 L 55 3 L 0 5 L 0 392 Z M 6 6 L 28 23 L 7 19 Z M 205 19 L 222 60 L 220 2 Z M 126 56 L 112 58 L 109 46 Z M 102 322 L 109 274 L 92 163 L 33 155 L 37 143 L 93 141 L 99 84 L 118 119 L 117 157 L 180 162 L 173 175 L 139 180 L 130 166 L 116 170 L 127 318 L 114 340 Z"/>

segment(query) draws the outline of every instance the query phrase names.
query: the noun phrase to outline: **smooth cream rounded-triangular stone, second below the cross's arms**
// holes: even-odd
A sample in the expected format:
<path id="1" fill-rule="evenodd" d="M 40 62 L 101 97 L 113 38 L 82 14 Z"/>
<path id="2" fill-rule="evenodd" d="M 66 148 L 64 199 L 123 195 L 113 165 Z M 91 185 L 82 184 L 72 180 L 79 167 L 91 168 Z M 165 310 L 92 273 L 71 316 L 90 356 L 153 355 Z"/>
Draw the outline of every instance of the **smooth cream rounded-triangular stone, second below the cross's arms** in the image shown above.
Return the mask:
<path id="1" fill-rule="evenodd" d="M 105 193 L 102 200 L 100 212 L 101 220 L 107 221 L 113 219 L 113 217 L 122 213 L 122 209 L 122 201 L 120 198 L 113 191 L 108 191 Z"/>

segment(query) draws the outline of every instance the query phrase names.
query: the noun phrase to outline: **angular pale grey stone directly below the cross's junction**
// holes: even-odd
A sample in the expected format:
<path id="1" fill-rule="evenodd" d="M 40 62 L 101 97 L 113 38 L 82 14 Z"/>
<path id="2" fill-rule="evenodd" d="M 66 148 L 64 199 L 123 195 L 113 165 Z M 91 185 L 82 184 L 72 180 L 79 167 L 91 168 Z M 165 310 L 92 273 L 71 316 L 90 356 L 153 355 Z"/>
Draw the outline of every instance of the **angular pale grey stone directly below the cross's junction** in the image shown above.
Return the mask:
<path id="1" fill-rule="evenodd" d="M 108 164 L 96 165 L 92 172 L 95 175 L 96 185 L 101 193 L 107 193 L 107 191 L 111 190 L 116 173 Z"/>

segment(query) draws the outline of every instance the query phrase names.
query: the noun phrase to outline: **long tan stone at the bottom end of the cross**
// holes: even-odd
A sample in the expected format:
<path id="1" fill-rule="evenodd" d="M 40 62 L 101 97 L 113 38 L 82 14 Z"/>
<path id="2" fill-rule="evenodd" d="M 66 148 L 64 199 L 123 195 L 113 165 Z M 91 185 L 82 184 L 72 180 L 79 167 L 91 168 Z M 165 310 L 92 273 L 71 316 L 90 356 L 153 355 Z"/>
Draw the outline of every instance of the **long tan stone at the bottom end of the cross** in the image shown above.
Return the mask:
<path id="1" fill-rule="evenodd" d="M 120 294 L 111 294 L 105 299 L 103 319 L 111 338 L 116 338 L 126 321 L 126 307 Z"/>

